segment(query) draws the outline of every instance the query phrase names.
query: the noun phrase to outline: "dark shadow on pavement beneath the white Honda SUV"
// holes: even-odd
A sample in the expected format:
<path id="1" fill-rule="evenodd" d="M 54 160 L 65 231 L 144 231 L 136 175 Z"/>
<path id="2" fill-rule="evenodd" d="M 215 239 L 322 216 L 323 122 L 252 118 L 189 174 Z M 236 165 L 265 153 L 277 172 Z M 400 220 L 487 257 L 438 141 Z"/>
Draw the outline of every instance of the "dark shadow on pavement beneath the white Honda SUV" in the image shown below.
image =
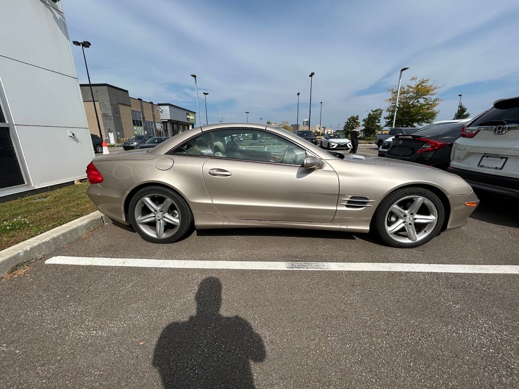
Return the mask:
<path id="1" fill-rule="evenodd" d="M 493 193 L 477 191 L 480 205 L 470 215 L 471 218 L 506 227 L 519 227 L 519 207 L 517 200 Z"/>

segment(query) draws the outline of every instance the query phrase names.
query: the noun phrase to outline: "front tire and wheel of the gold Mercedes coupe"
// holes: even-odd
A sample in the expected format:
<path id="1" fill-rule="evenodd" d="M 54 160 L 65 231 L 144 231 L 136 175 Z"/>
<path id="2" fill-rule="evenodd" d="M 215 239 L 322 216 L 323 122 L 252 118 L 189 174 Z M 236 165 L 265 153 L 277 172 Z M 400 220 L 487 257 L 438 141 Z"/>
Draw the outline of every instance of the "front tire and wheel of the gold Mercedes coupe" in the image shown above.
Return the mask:
<path id="1" fill-rule="evenodd" d="M 372 223 L 384 243 L 413 248 L 438 235 L 444 218 L 444 206 L 438 196 L 428 189 L 412 187 L 389 193 L 378 205 Z"/>

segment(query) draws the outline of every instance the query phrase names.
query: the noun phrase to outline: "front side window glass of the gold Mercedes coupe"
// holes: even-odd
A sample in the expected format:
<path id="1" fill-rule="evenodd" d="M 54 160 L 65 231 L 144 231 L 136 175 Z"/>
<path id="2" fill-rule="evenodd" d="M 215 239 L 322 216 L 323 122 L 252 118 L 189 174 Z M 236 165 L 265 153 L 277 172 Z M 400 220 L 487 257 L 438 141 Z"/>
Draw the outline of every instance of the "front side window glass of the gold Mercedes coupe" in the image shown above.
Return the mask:
<path id="1" fill-rule="evenodd" d="M 252 129 L 211 132 L 214 157 L 301 165 L 306 151 L 275 134 Z"/>

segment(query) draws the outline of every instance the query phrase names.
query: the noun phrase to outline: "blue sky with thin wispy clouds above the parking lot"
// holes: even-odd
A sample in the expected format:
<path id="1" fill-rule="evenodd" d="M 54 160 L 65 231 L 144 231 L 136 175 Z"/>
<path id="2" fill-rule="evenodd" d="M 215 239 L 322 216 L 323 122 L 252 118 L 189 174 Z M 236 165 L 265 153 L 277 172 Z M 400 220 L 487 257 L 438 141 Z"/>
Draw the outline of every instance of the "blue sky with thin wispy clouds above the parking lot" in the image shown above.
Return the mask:
<path id="1" fill-rule="evenodd" d="M 387 107 L 409 78 L 441 86 L 437 120 L 459 98 L 472 116 L 519 95 L 519 2 L 500 0 L 62 0 L 71 40 L 88 40 L 93 83 L 197 111 L 201 124 L 296 122 L 342 128 Z M 83 54 L 72 46 L 81 83 Z M 320 115 L 322 103 L 322 116 Z M 198 115 L 197 115 L 198 116 Z"/>

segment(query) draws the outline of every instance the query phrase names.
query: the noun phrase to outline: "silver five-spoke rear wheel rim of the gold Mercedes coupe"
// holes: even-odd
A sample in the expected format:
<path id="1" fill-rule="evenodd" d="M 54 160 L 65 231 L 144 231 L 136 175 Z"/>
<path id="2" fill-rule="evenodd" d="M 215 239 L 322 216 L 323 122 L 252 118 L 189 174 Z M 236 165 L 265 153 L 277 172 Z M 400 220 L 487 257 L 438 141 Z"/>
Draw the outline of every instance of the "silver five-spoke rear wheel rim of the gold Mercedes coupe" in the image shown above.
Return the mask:
<path id="1" fill-rule="evenodd" d="M 150 193 L 135 204 L 135 221 L 149 237 L 167 239 L 179 229 L 182 222 L 178 209 L 169 197 Z"/>

